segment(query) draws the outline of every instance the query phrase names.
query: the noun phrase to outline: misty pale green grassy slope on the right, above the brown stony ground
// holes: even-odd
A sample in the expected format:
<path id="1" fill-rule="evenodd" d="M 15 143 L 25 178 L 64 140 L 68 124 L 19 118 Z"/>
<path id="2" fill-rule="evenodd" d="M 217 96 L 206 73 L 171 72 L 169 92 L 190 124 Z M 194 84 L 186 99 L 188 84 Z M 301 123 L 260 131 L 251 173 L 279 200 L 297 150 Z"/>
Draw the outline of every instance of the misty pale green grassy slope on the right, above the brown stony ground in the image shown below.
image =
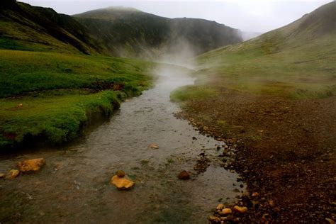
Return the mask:
<path id="1" fill-rule="evenodd" d="M 335 11 L 332 2 L 289 26 L 201 55 L 199 83 L 287 99 L 335 96 Z"/>

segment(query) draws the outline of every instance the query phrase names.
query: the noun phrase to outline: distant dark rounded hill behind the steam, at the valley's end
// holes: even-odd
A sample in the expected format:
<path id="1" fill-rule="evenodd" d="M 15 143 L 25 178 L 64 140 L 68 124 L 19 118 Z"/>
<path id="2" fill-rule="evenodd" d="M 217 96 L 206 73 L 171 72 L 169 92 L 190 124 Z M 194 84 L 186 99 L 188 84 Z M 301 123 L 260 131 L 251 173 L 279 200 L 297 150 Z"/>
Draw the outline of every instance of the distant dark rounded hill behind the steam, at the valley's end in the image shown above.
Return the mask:
<path id="1" fill-rule="evenodd" d="M 198 55 L 242 41 L 239 30 L 214 21 L 170 19 L 135 9 L 98 9 L 74 17 L 102 40 L 111 55 L 157 57 L 181 51 L 181 46 Z"/>

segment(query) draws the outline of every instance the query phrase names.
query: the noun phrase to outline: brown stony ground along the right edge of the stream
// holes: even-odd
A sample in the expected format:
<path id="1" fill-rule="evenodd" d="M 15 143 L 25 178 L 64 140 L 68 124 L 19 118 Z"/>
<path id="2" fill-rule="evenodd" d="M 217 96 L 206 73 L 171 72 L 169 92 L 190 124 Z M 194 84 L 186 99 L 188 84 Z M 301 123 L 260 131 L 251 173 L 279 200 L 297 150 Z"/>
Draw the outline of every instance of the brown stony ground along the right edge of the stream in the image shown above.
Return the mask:
<path id="1" fill-rule="evenodd" d="M 222 89 L 216 99 L 189 101 L 177 116 L 204 134 L 237 144 L 233 162 L 226 162 L 228 152 L 219 156 L 225 169 L 235 169 L 247 183 L 250 195 L 242 196 L 240 205 L 249 209 L 227 220 L 336 219 L 336 97 L 289 101 Z M 259 195 L 252 197 L 253 192 Z"/>

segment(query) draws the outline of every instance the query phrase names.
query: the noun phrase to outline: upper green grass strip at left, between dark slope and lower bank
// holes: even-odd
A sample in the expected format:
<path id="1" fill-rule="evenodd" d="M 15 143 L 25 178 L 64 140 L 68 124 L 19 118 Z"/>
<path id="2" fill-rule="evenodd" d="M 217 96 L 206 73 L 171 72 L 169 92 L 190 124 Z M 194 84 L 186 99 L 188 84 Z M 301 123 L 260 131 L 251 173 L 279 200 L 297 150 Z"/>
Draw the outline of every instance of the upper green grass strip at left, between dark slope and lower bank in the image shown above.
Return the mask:
<path id="1" fill-rule="evenodd" d="M 0 50 L 0 98 L 28 91 L 97 88 L 123 83 L 125 89 L 148 86 L 155 64 L 111 57 Z M 136 87 L 135 87 L 136 86 Z"/>

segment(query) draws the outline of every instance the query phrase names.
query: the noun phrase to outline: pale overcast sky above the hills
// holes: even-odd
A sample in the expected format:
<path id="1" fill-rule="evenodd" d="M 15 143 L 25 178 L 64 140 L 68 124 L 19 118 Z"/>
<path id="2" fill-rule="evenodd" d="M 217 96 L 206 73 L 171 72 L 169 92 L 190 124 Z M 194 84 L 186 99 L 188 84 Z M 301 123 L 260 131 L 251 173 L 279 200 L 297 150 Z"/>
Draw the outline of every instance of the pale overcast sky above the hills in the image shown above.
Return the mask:
<path id="1" fill-rule="evenodd" d="M 58 13 L 76 14 L 108 6 L 127 6 L 169 18 L 191 17 L 217 21 L 251 32 L 267 32 L 285 26 L 305 13 L 326 4 L 323 0 L 296 1 L 113 1 L 113 0 L 18 0 L 34 6 L 50 7 Z"/>

